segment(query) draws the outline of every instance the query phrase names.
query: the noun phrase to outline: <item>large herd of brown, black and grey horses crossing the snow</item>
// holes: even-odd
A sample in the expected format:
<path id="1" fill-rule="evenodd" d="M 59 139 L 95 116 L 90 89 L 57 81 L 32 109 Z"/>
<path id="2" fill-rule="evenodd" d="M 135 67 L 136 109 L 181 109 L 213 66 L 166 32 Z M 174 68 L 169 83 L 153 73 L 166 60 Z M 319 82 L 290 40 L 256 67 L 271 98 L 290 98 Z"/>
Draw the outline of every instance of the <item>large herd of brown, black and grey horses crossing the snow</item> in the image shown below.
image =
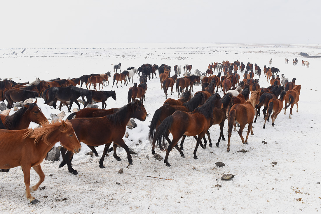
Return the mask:
<path id="1" fill-rule="evenodd" d="M 116 66 L 116 65 L 115 65 Z M 121 63 L 114 66 L 114 81 L 123 81 L 124 86 L 130 82 L 129 77 L 133 78 L 135 73 L 140 76 L 140 84 L 134 84 L 128 90 L 128 104 L 121 108 L 106 109 L 106 100 L 108 97 L 116 100 L 115 91 L 98 91 L 96 84 L 106 86 L 110 72 L 105 74 L 89 74 L 82 75 L 80 78 L 71 80 L 49 80 L 35 82 L 15 83 L 12 80 L 0 81 L 1 99 L 7 99 L 8 108 L 12 107 L 13 102 L 24 101 L 28 98 L 42 96 L 46 104 L 52 102 L 52 106 L 56 108 L 56 101 L 65 103 L 68 111 L 71 112 L 73 102 L 80 108 L 78 98 L 82 97 L 84 108 L 70 114 L 66 121 L 48 122 L 43 115 L 41 109 L 37 106 L 37 100 L 34 103 L 28 103 L 19 108 L 13 115 L 0 115 L 0 150 L 6 151 L 0 157 L 0 168 L 2 172 L 8 172 L 10 168 L 21 166 L 24 174 L 24 182 L 26 186 L 26 197 L 31 203 L 35 204 L 39 201 L 30 194 L 30 168 L 33 167 L 38 173 L 39 182 L 31 187 L 31 192 L 37 190 L 39 185 L 44 181 L 44 174 L 41 170 L 40 163 L 46 157 L 48 151 L 60 141 L 60 151 L 63 161 L 59 167 L 67 165 L 68 171 L 78 174 L 77 170 L 72 167 L 73 155 L 80 151 L 80 142 L 88 145 L 95 156 L 98 153 L 96 146 L 105 145 L 103 154 L 99 161 L 99 167 L 104 168 L 104 158 L 108 152 L 113 151 L 113 156 L 118 161 L 121 160 L 117 156 L 117 145 L 124 148 L 127 153 L 128 163 L 133 164 L 132 157 L 128 146 L 123 140 L 126 132 L 126 125 L 130 118 L 136 118 L 141 121 L 146 120 L 147 112 L 143 105 L 145 93 L 147 90 L 147 81 L 156 76 L 158 70 L 161 89 L 165 93 L 165 102 L 157 109 L 152 117 L 149 125 L 148 139 L 152 145 L 152 154 L 155 154 L 155 147 L 162 151 L 166 151 L 164 163 L 171 166 L 168 161 L 169 152 L 175 147 L 181 157 L 185 157 L 183 153 L 183 143 L 186 136 L 194 136 L 196 145 L 194 149 L 194 158 L 197 159 L 198 146 L 206 148 L 208 137 L 209 146 L 212 147 L 209 129 L 214 124 L 220 125 L 220 134 L 216 146 L 222 140 L 225 141 L 223 128 L 226 119 L 228 124 L 228 144 L 227 152 L 230 151 L 230 138 L 232 130 L 236 131 L 239 126 L 239 136 L 241 142 L 247 144 L 249 133 L 253 134 L 252 124 L 256 122 L 256 117 L 260 116 L 260 108 L 263 108 L 264 125 L 271 116 L 272 126 L 278 114 L 284 109 L 290 107 L 290 118 L 292 108 L 296 104 L 298 112 L 298 101 L 301 85 L 296 85 L 296 79 L 290 82 L 288 78 L 282 74 L 279 78 L 277 74 L 279 69 L 267 68 L 264 72 L 269 76 L 271 86 L 267 88 L 260 87 L 258 79 L 253 79 L 255 75 L 260 77 L 260 68 L 258 65 L 247 63 L 247 66 L 238 60 L 234 63 L 223 61 L 222 63 L 211 63 L 206 72 L 208 76 L 199 76 L 190 74 L 181 78 L 181 66 L 175 65 L 173 76 L 170 76 L 171 68 L 166 64 L 158 66 L 156 64 L 143 64 L 138 69 L 129 67 L 127 70 L 120 72 Z M 266 66 L 264 66 L 264 69 Z M 184 71 L 191 72 L 192 65 L 186 64 Z M 245 70 L 244 70 L 245 69 Z M 238 71 L 243 74 L 241 80 Z M 216 72 L 217 74 L 213 74 Z M 222 72 L 224 73 L 223 75 Z M 272 75 L 271 75 L 272 74 Z M 276 77 L 274 75 L 276 75 Z M 126 79 L 126 77 L 128 79 Z M 82 83 L 85 83 L 87 89 L 82 89 Z M 133 79 L 132 79 L 133 83 Z M 176 91 L 178 99 L 167 98 L 167 90 L 174 93 L 173 87 L 176 83 Z M 197 91 L 192 96 L 193 85 L 200 83 L 202 90 Z M 89 90 L 92 88 L 95 90 Z M 18 87 L 18 86 L 19 87 Z M 80 85 L 80 87 L 76 87 Z M 113 82 L 114 85 L 114 82 Z M 116 83 L 117 85 L 117 83 Z M 15 87 L 16 86 L 16 87 Z M 223 96 L 219 94 L 219 88 L 223 89 Z M 37 90 L 36 90 L 37 89 Z M 99 85 L 100 89 L 100 85 Z M 12 91 L 21 92 L 22 97 L 16 99 Z M 33 91 L 37 94 L 28 94 L 26 91 Z M 250 95 L 250 96 L 249 96 Z M 280 96 L 280 98 L 279 98 Z M 16 96 L 17 97 L 17 96 Z M 85 98 L 86 97 L 86 101 Z M 136 99 L 136 98 L 139 98 Z M 17 101 L 15 101 L 17 100 Z M 103 102 L 102 109 L 86 107 L 92 101 Z M 10 104 L 9 104 L 10 101 Z M 70 101 L 69 106 L 67 101 Z M 283 107 L 284 102 L 284 107 Z M 61 108 L 61 106 L 60 106 Z M 41 127 L 36 129 L 28 129 L 30 122 L 35 122 Z M 247 135 L 244 139 L 242 131 L 248 124 Z M 169 138 L 172 135 L 172 140 Z M 180 146 L 178 141 L 181 140 Z M 202 142 L 203 139 L 203 142 Z M 113 147 L 109 149 L 111 143 Z M 17 152 L 19 151 L 19 152 Z"/>

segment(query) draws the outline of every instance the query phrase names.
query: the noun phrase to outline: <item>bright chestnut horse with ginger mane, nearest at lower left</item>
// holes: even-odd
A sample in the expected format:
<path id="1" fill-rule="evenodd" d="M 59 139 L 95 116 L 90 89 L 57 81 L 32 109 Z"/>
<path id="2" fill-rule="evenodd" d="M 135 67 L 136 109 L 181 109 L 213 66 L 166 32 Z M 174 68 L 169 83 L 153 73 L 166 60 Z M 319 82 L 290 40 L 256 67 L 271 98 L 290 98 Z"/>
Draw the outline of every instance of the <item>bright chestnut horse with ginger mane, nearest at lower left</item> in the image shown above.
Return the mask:
<path id="1" fill-rule="evenodd" d="M 33 167 L 40 177 L 39 182 L 31 187 L 32 192 L 45 179 L 40 163 L 56 142 L 60 141 L 61 145 L 74 153 L 78 153 L 81 147 L 72 125 L 65 121 L 42 124 L 42 127 L 34 130 L 1 129 L 0 135 L 0 168 L 22 167 L 26 197 L 32 204 L 39 201 L 30 194 L 30 168 Z"/>

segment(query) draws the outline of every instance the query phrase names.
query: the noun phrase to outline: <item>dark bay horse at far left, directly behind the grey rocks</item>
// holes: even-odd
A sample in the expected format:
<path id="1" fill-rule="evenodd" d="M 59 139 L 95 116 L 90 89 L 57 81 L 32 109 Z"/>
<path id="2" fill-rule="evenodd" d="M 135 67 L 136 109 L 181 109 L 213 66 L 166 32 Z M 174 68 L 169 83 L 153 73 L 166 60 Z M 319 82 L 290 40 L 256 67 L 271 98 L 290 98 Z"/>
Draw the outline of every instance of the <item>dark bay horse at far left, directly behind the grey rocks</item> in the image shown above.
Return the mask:
<path id="1" fill-rule="evenodd" d="M 8 101 L 7 108 L 13 107 L 13 102 L 25 101 L 29 98 L 38 97 L 36 91 L 9 89 L 5 92 L 4 98 Z"/>

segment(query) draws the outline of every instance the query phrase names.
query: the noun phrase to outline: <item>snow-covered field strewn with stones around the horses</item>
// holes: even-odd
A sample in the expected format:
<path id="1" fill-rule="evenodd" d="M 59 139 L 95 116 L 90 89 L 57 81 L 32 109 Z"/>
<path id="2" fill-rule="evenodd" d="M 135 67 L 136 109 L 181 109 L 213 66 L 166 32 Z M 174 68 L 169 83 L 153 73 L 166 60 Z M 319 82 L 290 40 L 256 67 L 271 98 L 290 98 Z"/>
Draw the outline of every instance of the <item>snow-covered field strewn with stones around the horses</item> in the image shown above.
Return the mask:
<path id="1" fill-rule="evenodd" d="M 137 153 L 132 155 L 133 164 L 128 165 L 126 152 L 117 149 L 122 161 L 110 155 L 105 158 L 106 168 L 99 168 L 99 159 L 104 146 L 97 149 L 100 157 L 85 155 L 90 149 L 82 144 L 82 151 L 74 155 L 73 167 L 79 174 L 73 175 L 67 167 L 58 168 L 59 162 L 44 161 L 41 166 L 46 175 L 45 181 L 31 194 L 40 202 L 30 204 L 25 197 L 23 173 L 20 167 L 8 173 L 0 173 L 0 213 L 315 213 L 321 207 L 321 141 L 320 141 L 320 58 L 303 58 L 300 52 L 310 56 L 321 56 L 317 46 L 304 45 L 215 45 L 215 44 L 89 44 L 28 47 L 21 49 L 0 49 L 0 78 L 13 78 L 16 82 L 33 81 L 36 78 L 49 80 L 56 77 L 78 78 L 83 74 L 106 73 L 113 64 L 122 63 L 121 70 L 141 64 L 192 64 L 192 72 L 207 70 L 211 62 L 237 59 L 263 66 L 273 67 L 291 81 L 301 84 L 299 113 L 293 108 L 292 119 L 289 110 L 279 114 L 275 126 L 264 118 L 253 124 L 254 135 L 250 135 L 248 145 L 241 143 L 238 133 L 231 137 L 230 153 L 226 152 L 227 141 L 215 143 L 219 137 L 219 125 L 210 129 L 213 148 L 198 149 L 198 159 L 193 158 L 196 141 L 187 137 L 185 157 L 177 150 L 169 155 L 171 167 L 152 158 L 151 145 L 147 140 L 148 125 L 156 109 L 165 100 L 160 90 L 159 78 L 147 82 L 145 108 L 149 116 L 145 122 L 135 120 L 137 127 L 126 130 L 126 144 Z M 11 55 L 15 51 L 17 55 Z M 285 64 L 285 57 L 289 64 Z M 298 58 L 297 65 L 292 59 Z M 301 61 L 310 62 L 310 67 L 302 66 Z M 240 73 L 240 72 L 239 72 Z M 280 75 L 281 76 L 281 75 Z M 256 79 L 256 78 L 255 78 Z M 134 82 L 138 78 L 135 75 Z M 261 87 L 268 87 L 266 77 L 259 80 Z M 116 90 L 117 100 L 107 100 L 107 108 L 122 107 L 127 103 L 128 88 L 112 89 L 112 76 L 109 86 L 103 90 Z M 118 84 L 119 86 L 119 84 Z M 84 87 L 84 86 L 83 86 Z M 194 93 L 201 85 L 194 86 Z M 177 99 L 177 94 L 169 98 Z M 221 97 L 223 93 L 220 93 Z M 38 106 L 50 118 L 51 109 L 38 100 Z M 58 102 L 59 103 L 59 102 Z M 101 107 L 101 103 L 98 104 Z M 77 107 L 76 104 L 73 108 Z M 83 106 L 81 106 L 82 108 Z M 62 110 L 68 115 L 66 107 Z M 35 127 L 36 124 L 31 124 Z M 247 126 L 245 128 L 247 130 Z M 224 136 L 227 138 L 227 121 Z M 243 136 L 246 132 L 243 132 Z M 264 144 L 262 141 L 266 141 Z M 246 150 L 247 152 L 238 152 Z M 3 152 L 3 151 L 1 151 Z M 165 157 L 165 153 L 156 149 Z M 110 153 L 111 154 L 111 153 Z M 215 162 L 225 163 L 216 167 Z M 277 162 L 272 165 L 272 162 Z M 124 173 L 118 174 L 123 168 Z M 223 174 L 235 175 L 230 181 L 222 181 Z M 52 176 L 49 176 L 52 174 Z M 164 179 L 152 178 L 154 176 Z M 31 170 L 31 185 L 38 182 L 38 175 Z M 120 184 L 116 184 L 120 183 Z M 217 184 L 221 185 L 218 187 Z"/>

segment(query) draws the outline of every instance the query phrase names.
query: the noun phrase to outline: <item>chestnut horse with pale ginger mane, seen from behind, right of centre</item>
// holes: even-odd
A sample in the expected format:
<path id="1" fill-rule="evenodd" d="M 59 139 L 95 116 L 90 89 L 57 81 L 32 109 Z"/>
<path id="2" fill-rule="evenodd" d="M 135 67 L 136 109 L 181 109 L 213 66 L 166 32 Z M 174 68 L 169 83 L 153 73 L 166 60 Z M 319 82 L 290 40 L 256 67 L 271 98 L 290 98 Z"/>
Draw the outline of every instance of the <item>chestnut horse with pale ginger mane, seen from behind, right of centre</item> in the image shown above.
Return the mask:
<path id="1" fill-rule="evenodd" d="M 232 128 L 237 121 L 240 124 L 239 136 L 241 137 L 242 143 L 247 144 L 248 134 L 251 131 L 251 135 L 253 135 L 252 123 L 255 116 L 254 107 L 256 102 L 258 101 L 260 95 L 260 91 L 252 91 L 251 98 L 247 100 L 244 104 L 236 104 L 231 107 L 230 113 L 228 116 L 228 124 L 229 124 L 229 141 L 227 143 L 227 152 L 230 151 L 230 138 L 232 135 Z M 248 124 L 247 135 L 244 141 L 242 136 L 242 131 L 245 128 L 245 125 Z"/>

